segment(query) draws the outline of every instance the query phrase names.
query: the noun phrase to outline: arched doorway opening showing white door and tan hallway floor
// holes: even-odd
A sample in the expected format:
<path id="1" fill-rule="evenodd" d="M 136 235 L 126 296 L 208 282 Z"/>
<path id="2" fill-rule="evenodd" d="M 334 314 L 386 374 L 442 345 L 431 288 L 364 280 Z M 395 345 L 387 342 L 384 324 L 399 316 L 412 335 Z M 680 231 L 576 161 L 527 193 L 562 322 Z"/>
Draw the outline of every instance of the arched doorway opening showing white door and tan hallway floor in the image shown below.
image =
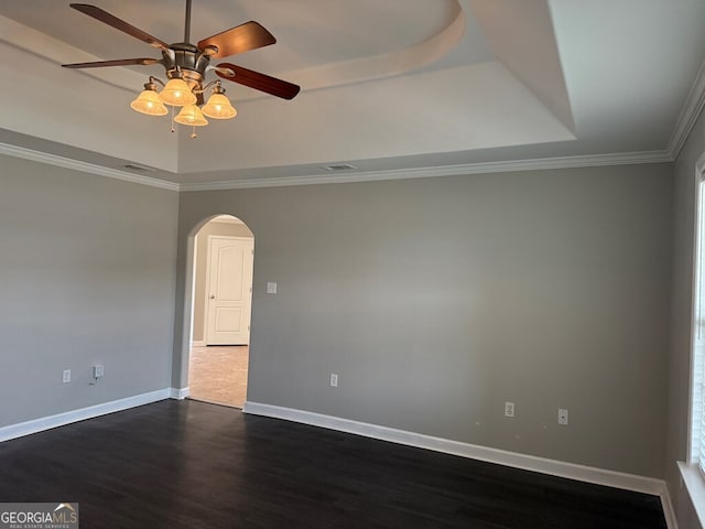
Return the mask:
<path id="1" fill-rule="evenodd" d="M 254 236 L 219 215 L 194 239 L 188 397 L 234 408 L 247 399 Z"/>

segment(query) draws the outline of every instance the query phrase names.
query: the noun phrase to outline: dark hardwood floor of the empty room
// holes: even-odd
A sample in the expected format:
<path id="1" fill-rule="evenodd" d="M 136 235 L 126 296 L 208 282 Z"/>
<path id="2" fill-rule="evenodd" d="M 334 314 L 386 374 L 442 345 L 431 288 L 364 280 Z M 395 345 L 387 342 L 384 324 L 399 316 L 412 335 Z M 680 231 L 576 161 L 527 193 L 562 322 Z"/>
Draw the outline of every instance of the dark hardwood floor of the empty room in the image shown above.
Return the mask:
<path id="1" fill-rule="evenodd" d="M 0 501 L 91 528 L 665 528 L 660 499 L 166 400 L 0 443 Z"/>

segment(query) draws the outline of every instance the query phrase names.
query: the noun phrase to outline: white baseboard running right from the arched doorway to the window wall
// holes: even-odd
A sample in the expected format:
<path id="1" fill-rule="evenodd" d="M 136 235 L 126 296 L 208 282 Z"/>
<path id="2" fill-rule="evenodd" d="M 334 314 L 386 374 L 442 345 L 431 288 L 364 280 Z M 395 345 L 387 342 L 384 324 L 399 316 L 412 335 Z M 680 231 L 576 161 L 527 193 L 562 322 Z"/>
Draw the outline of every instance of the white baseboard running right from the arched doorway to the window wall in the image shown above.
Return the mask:
<path id="1" fill-rule="evenodd" d="M 490 449 L 469 443 L 462 443 L 442 438 L 434 438 L 421 433 L 395 430 L 393 428 L 350 421 L 338 417 L 313 413 L 311 411 L 282 408 L 279 406 L 263 404 L 261 402 L 247 401 L 242 408 L 245 413 L 253 415 L 272 417 L 293 422 L 301 422 L 313 427 L 327 428 L 339 432 L 354 433 L 366 438 L 390 441 L 392 443 L 433 450 L 445 454 L 459 455 L 473 460 L 497 463 L 525 471 L 550 474 L 552 476 L 566 477 L 579 482 L 606 485 L 609 487 L 651 494 L 661 497 L 663 511 L 669 523 L 669 529 L 677 529 L 673 506 L 669 496 L 666 484 L 663 479 L 607 471 L 592 466 L 565 463 L 562 461 L 519 454 L 505 450 Z"/>

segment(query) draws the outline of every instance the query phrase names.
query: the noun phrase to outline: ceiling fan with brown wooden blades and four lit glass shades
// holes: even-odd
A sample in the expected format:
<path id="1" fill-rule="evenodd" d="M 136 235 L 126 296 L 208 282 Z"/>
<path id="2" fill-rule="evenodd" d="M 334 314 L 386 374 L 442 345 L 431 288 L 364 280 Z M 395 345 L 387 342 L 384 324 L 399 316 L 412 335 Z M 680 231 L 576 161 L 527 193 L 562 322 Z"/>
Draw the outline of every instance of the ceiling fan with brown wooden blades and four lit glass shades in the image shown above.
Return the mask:
<path id="1" fill-rule="evenodd" d="M 116 30 L 139 39 L 147 44 L 161 50 L 162 58 L 119 58 L 113 61 L 97 61 L 90 63 L 63 64 L 65 68 L 95 68 L 105 66 L 131 66 L 161 64 L 165 69 L 169 82 L 165 84 L 156 77 L 150 76 L 144 90 L 132 101 L 131 107 L 142 114 L 163 116 L 167 114 L 164 104 L 172 107 L 183 107 L 174 121 L 182 125 L 207 125 L 204 114 L 215 119 L 235 117 L 237 111 L 224 95 L 220 79 L 205 83 L 207 72 L 215 72 L 218 77 L 230 80 L 256 90 L 270 94 L 283 99 L 293 99 L 300 87 L 292 83 L 271 77 L 231 63 L 210 65 L 212 58 L 223 58 L 250 50 L 269 46 L 276 40 L 262 25 L 254 21 L 230 28 L 215 35 L 198 41 L 196 45 L 191 39 L 191 2 L 186 0 L 186 17 L 184 23 L 184 42 L 166 44 L 155 36 L 145 33 L 107 11 L 87 3 L 70 3 L 69 6 L 88 17 L 108 24 Z M 156 83 L 163 86 L 158 94 Z M 213 96 L 204 105 L 204 93 L 214 86 Z M 200 108 L 203 107 L 203 108 Z M 202 111 L 203 110 L 203 111 Z M 195 130 L 195 129 L 194 129 Z M 195 137 L 195 133 L 192 134 Z"/>

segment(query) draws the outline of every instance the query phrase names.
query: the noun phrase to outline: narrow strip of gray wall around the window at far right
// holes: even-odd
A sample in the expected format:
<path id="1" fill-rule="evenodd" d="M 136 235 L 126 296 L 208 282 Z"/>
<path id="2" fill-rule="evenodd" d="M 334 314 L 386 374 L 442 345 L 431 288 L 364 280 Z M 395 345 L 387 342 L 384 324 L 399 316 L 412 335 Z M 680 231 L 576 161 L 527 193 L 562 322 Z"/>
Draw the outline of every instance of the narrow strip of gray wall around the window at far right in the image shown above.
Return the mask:
<path id="1" fill-rule="evenodd" d="M 671 353 L 669 365 L 669 439 L 666 481 L 681 529 L 699 528 L 676 461 L 686 461 L 695 245 L 695 163 L 705 152 L 705 119 L 701 116 L 676 160 L 674 176 L 673 293 L 671 298 Z"/>

